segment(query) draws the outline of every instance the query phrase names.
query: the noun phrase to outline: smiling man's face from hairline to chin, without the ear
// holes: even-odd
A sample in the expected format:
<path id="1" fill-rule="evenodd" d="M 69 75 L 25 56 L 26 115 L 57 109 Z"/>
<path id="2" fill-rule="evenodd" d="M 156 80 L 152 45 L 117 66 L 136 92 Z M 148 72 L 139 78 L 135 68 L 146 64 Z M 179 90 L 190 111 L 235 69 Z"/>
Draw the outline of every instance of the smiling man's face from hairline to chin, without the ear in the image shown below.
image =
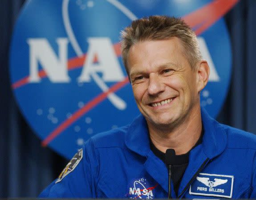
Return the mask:
<path id="1" fill-rule="evenodd" d="M 178 38 L 139 42 L 128 53 L 134 97 L 149 125 L 176 126 L 200 109 L 197 70 Z"/>

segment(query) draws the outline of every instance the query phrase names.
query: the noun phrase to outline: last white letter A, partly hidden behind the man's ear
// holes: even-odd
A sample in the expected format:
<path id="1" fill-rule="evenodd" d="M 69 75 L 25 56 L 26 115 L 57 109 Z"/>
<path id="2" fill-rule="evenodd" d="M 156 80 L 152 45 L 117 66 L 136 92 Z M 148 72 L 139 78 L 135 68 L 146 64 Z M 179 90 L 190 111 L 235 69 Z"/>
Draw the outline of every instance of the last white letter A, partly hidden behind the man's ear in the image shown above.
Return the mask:
<path id="1" fill-rule="evenodd" d="M 209 75 L 209 81 L 210 82 L 219 82 L 220 78 L 216 71 L 215 65 L 211 59 L 211 54 L 207 48 L 207 44 L 203 37 L 197 37 L 199 42 L 199 48 L 202 53 L 203 59 L 207 60 L 207 63 L 209 64 L 210 68 L 210 75 Z"/>

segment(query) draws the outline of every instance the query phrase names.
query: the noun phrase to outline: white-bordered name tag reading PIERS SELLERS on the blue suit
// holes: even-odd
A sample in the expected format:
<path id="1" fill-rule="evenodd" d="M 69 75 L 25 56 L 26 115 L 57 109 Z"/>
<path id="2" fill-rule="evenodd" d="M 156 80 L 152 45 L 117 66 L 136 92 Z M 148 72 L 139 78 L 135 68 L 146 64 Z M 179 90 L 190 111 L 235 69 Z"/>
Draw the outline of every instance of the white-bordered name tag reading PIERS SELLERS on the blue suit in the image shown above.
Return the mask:
<path id="1" fill-rule="evenodd" d="M 199 173 L 189 194 L 232 198 L 234 176 Z"/>

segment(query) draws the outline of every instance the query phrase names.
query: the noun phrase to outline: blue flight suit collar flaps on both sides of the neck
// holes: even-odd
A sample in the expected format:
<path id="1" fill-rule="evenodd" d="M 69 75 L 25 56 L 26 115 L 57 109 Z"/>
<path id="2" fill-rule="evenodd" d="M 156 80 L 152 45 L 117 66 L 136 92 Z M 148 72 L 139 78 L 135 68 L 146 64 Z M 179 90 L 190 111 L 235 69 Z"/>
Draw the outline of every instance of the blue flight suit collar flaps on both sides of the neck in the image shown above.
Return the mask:
<path id="1" fill-rule="evenodd" d="M 203 108 L 201 108 L 201 116 L 204 128 L 203 151 L 208 158 L 212 159 L 226 148 L 227 134 L 221 124 L 212 119 Z M 148 156 L 150 152 L 149 133 L 146 120 L 142 115 L 130 124 L 125 143 L 130 150 L 141 156 Z"/>

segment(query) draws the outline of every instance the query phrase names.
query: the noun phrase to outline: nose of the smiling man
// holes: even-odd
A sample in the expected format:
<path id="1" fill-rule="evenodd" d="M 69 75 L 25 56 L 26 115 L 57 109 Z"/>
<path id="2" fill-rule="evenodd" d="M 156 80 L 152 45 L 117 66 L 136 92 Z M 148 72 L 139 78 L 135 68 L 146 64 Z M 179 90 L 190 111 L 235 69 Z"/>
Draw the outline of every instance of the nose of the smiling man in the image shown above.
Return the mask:
<path id="1" fill-rule="evenodd" d="M 147 91 L 152 96 L 164 91 L 164 84 L 158 74 L 150 73 Z"/>

